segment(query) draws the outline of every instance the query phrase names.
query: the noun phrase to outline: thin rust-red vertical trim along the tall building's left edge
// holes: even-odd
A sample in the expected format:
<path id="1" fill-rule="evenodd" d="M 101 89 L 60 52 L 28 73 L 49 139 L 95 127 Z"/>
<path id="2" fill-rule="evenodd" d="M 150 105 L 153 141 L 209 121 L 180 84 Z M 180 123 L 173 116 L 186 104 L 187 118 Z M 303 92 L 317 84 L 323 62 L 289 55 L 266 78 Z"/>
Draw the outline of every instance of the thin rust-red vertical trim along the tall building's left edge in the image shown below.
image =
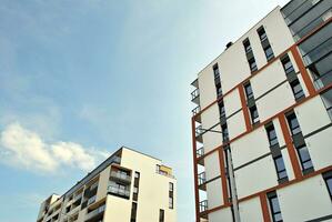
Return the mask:
<path id="1" fill-rule="evenodd" d="M 191 137 L 192 137 L 192 154 L 193 154 L 193 178 L 194 178 L 194 200 L 195 200 L 195 218 L 200 222 L 200 193 L 198 179 L 198 159 L 197 159 L 197 141 L 195 141 L 195 120 L 191 118 Z"/>

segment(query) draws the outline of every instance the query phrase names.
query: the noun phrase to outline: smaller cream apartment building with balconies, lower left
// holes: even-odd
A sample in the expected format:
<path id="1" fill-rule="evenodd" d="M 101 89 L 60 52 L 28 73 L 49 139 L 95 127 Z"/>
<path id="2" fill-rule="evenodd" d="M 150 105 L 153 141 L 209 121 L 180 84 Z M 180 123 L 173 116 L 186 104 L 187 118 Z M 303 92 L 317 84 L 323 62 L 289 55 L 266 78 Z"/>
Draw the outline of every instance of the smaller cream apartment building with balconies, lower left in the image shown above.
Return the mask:
<path id="1" fill-rule="evenodd" d="M 37 222 L 175 222 L 175 192 L 171 168 L 122 147 L 63 195 L 43 201 Z"/>

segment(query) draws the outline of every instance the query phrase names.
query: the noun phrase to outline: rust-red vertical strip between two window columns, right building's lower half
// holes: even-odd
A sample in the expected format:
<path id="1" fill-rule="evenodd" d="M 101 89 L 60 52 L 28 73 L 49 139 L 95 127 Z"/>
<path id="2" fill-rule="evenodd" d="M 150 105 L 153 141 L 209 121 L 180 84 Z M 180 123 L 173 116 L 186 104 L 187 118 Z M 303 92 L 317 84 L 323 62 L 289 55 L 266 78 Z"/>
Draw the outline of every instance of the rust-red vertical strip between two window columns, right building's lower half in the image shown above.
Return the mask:
<path id="1" fill-rule="evenodd" d="M 282 130 L 282 134 L 285 141 L 285 145 L 291 159 L 292 168 L 294 171 L 295 179 L 300 179 L 302 176 L 301 168 L 298 161 L 296 152 L 292 142 L 291 133 L 286 124 L 286 120 L 283 113 L 278 115 L 280 127 Z"/>

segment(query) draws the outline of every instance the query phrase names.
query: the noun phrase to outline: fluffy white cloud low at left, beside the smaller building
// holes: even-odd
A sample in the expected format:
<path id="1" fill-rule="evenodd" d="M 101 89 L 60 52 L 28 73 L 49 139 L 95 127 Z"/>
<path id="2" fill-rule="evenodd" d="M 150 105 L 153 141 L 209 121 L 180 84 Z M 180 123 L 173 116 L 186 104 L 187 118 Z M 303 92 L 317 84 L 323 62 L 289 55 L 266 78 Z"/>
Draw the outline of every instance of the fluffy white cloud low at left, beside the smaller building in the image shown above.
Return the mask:
<path id="1" fill-rule="evenodd" d="M 19 123 L 9 124 L 0 138 L 1 162 L 38 173 L 57 172 L 63 167 L 89 171 L 108 155 L 105 151 L 87 149 L 74 142 L 47 143 Z"/>

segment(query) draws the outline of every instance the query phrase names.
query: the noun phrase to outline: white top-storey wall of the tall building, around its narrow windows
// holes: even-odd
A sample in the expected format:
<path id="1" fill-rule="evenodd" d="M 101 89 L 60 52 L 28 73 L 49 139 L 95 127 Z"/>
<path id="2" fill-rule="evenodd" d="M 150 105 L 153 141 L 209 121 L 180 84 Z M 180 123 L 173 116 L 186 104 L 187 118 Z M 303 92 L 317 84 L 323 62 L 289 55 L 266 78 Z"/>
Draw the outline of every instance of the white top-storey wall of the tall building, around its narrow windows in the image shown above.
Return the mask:
<path id="1" fill-rule="evenodd" d="M 244 39 L 250 39 L 258 68 L 262 68 L 266 64 L 268 61 L 256 33 L 256 29 L 261 26 L 264 26 L 275 57 L 294 43 L 290 30 L 280 13 L 280 8 L 275 8 L 251 30 L 238 39 L 228 50 L 223 51 L 217 59 L 200 71 L 199 85 L 201 90 L 202 108 L 217 99 L 212 69 L 217 62 L 221 73 L 223 92 L 228 92 L 250 77 L 251 72 L 242 44 Z"/>

